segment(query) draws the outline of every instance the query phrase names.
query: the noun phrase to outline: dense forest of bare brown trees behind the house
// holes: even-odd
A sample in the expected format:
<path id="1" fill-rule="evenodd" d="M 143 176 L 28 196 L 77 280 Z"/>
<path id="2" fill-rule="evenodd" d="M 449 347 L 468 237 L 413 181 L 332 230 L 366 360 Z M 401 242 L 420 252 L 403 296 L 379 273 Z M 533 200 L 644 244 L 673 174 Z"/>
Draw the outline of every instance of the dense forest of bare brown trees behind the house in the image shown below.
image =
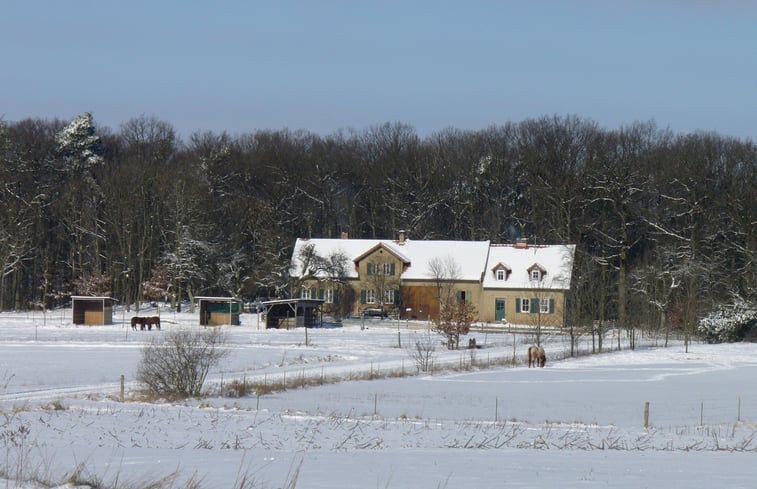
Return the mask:
<path id="1" fill-rule="evenodd" d="M 568 324 L 693 331 L 754 303 L 757 146 L 544 117 L 420 137 L 0 121 L 0 307 L 279 296 L 296 237 L 577 244 Z M 601 338 L 601 336 L 600 336 Z"/>

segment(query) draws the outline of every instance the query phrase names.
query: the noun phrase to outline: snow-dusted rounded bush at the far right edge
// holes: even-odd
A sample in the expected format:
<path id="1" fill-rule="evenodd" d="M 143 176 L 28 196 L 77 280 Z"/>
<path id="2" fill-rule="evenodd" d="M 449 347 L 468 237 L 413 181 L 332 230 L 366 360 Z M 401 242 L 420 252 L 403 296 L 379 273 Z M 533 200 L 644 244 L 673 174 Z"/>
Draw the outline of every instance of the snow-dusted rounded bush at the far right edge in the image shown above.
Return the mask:
<path id="1" fill-rule="evenodd" d="M 757 307 L 742 299 L 722 304 L 699 320 L 699 334 L 708 343 L 742 341 L 757 326 Z"/>

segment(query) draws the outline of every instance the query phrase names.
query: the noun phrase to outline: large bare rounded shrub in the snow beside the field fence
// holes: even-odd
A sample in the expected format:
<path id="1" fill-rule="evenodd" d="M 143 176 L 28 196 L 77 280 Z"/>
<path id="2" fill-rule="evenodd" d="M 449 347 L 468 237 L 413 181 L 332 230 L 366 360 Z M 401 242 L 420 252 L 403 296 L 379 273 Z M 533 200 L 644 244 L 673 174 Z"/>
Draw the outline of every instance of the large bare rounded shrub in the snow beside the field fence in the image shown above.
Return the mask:
<path id="1" fill-rule="evenodd" d="M 199 396 L 208 371 L 228 354 L 223 334 L 208 331 L 172 331 L 142 349 L 137 380 L 156 395 Z"/>

